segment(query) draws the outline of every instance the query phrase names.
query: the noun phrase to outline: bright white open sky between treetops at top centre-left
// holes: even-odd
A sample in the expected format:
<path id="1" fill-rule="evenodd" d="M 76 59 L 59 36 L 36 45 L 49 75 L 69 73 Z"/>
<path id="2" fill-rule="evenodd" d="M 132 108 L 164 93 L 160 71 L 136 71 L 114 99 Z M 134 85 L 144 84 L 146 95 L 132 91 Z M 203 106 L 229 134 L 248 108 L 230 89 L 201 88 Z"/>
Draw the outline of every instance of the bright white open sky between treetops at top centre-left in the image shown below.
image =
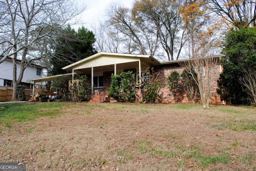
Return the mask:
<path id="1" fill-rule="evenodd" d="M 78 0 L 78 4 L 86 6 L 86 10 L 82 14 L 83 26 L 91 30 L 91 25 L 98 24 L 98 21 L 102 20 L 106 8 L 113 1 L 120 2 L 120 4 L 128 8 L 132 6 L 133 2 L 133 0 Z"/>

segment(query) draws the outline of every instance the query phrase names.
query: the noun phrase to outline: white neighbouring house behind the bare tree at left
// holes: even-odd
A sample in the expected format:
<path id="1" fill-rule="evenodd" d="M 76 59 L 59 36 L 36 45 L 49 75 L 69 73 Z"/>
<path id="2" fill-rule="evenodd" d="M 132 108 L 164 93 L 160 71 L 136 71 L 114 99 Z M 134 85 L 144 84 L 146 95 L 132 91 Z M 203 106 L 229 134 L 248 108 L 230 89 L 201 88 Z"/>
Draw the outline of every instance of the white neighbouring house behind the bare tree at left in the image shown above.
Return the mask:
<path id="1" fill-rule="evenodd" d="M 17 60 L 17 79 L 20 75 L 20 61 Z M 28 83 L 26 80 L 30 80 L 32 78 L 42 78 L 42 70 L 44 67 L 30 64 L 26 67 L 23 78 L 22 84 L 27 85 L 28 87 L 32 88 L 31 83 Z M 0 64 L 0 86 L 12 86 L 12 72 L 13 72 L 13 64 L 11 59 L 6 59 L 4 62 Z M 38 82 L 37 85 L 41 85 L 41 82 Z M 36 86 L 37 86 L 36 85 Z"/>

